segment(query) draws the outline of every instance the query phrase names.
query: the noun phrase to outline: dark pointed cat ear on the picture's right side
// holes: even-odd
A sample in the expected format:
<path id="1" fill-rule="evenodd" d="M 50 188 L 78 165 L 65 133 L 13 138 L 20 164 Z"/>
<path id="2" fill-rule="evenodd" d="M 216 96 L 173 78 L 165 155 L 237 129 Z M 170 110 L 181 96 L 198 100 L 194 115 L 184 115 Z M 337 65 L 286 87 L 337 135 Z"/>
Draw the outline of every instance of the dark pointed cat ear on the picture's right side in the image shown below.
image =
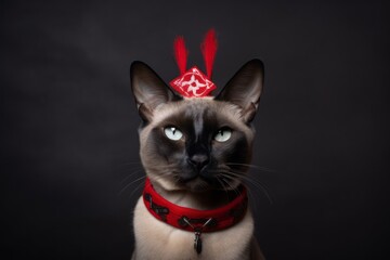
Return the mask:
<path id="1" fill-rule="evenodd" d="M 264 65 L 260 60 L 247 62 L 226 83 L 216 100 L 242 107 L 244 120 L 250 122 L 256 115 L 264 81 Z"/>

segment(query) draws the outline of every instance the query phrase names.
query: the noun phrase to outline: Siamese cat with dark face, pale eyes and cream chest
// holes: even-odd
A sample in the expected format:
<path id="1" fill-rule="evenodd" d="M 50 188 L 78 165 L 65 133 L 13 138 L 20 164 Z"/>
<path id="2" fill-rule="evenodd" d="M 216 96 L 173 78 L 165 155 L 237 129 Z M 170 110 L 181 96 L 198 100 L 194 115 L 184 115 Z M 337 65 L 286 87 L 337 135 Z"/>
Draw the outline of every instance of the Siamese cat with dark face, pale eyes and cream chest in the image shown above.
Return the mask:
<path id="1" fill-rule="evenodd" d="M 146 64 L 132 63 L 131 89 L 142 119 L 140 157 L 156 196 L 173 207 L 207 211 L 244 194 L 240 177 L 251 160 L 251 122 L 263 70 L 260 60 L 249 61 L 216 98 L 188 99 L 171 90 Z M 244 210 L 234 219 L 237 222 L 202 233 L 200 227 L 211 225 L 211 217 L 197 221 L 183 217 L 179 222 L 190 230 L 178 229 L 165 223 L 169 209 L 144 192 L 134 209 L 132 259 L 264 259 L 253 237 L 252 214 L 245 200 L 239 206 Z"/>

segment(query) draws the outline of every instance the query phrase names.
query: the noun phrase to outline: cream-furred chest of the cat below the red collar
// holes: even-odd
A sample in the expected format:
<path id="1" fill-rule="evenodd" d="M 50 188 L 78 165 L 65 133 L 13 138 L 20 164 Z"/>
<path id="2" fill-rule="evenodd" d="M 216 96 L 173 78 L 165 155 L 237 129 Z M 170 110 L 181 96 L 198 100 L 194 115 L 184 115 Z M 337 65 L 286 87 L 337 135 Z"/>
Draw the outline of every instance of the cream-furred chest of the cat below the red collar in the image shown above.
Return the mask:
<path id="1" fill-rule="evenodd" d="M 253 232 L 250 212 L 236 225 L 202 234 L 203 250 L 194 250 L 194 233 L 155 219 L 142 199 L 134 210 L 134 259 L 248 259 Z"/>

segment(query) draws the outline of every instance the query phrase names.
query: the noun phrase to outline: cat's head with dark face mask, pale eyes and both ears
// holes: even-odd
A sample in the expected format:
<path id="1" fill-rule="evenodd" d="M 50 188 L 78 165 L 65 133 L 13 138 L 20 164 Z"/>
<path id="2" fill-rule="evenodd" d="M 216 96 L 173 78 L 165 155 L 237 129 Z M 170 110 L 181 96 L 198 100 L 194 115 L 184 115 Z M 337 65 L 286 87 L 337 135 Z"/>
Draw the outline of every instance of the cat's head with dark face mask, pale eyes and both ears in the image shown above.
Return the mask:
<path id="1" fill-rule="evenodd" d="M 182 98 L 142 62 L 130 78 L 147 177 L 168 191 L 236 188 L 251 159 L 262 62 L 246 63 L 216 98 Z"/>

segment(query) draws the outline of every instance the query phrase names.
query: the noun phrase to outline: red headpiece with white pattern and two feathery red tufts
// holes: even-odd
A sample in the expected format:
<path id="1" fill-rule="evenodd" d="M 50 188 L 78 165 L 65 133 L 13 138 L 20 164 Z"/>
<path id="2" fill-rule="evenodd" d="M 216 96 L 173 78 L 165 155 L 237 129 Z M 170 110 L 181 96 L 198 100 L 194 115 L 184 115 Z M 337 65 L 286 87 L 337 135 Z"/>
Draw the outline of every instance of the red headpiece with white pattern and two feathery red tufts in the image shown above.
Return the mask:
<path id="1" fill-rule="evenodd" d="M 185 48 L 184 38 L 178 36 L 173 42 L 173 50 L 180 76 L 170 81 L 170 86 L 185 98 L 206 96 L 214 90 L 217 87 L 211 81 L 211 73 L 217 53 L 217 44 L 216 30 L 208 30 L 200 46 L 207 72 L 207 75 L 205 75 L 196 66 L 186 70 L 188 51 Z"/>

